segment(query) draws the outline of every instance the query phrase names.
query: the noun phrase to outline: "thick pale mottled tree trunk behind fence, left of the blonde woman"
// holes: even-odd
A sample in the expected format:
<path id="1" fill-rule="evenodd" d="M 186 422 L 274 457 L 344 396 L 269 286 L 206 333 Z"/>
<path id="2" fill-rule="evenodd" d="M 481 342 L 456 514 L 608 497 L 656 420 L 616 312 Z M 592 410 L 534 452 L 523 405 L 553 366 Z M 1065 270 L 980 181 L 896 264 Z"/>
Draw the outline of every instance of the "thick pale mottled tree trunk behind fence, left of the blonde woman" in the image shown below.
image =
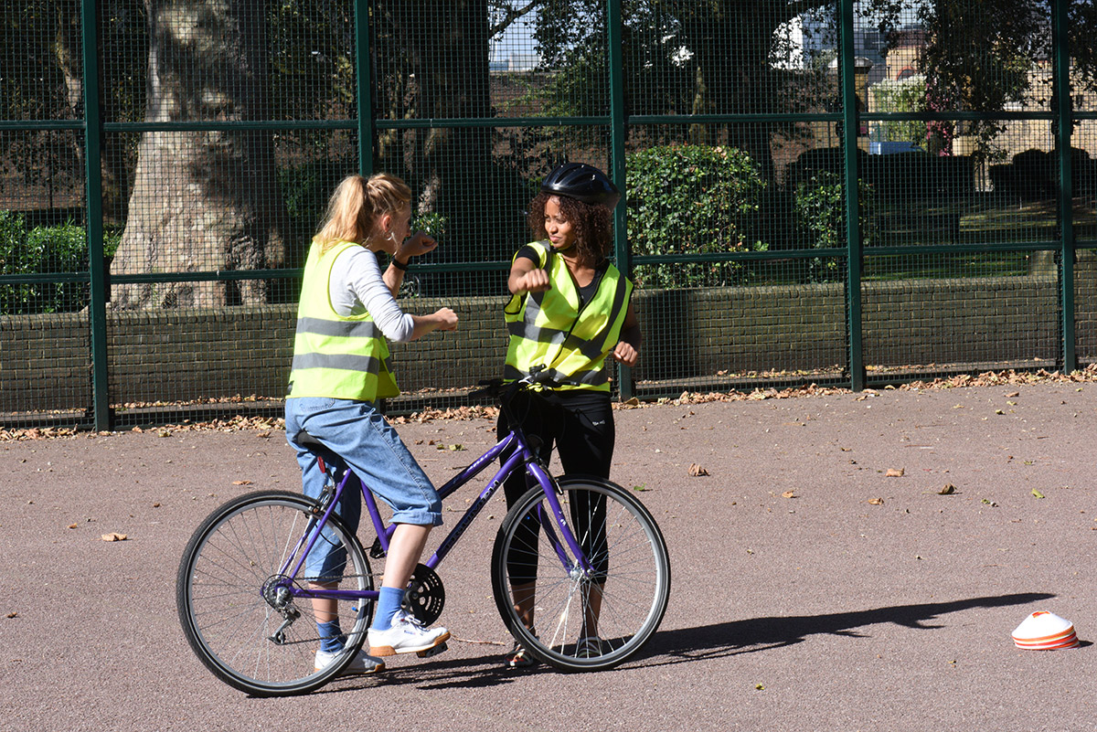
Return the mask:
<path id="1" fill-rule="evenodd" d="M 269 119 L 269 0 L 145 0 L 147 122 Z M 111 274 L 281 266 L 285 206 L 269 133 L 142 136 Z M 262 281 L 116 285 L 114 308 L 220 307 L 265 299 Z"/>

